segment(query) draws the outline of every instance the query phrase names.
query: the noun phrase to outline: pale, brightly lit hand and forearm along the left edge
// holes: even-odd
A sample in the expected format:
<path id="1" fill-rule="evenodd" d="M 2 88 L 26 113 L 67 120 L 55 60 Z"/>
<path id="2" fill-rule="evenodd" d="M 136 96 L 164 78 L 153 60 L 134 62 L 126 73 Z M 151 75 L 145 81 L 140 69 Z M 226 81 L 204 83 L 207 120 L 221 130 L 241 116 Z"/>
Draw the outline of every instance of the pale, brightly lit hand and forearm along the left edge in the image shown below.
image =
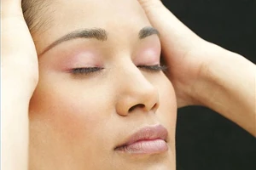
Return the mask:
<path id="1" fill-rule="evenodd" d="M 2 167 L 28 169 L 28 108 L 38 83 L 38 56 L 21 0 L 1 1 Z"/>

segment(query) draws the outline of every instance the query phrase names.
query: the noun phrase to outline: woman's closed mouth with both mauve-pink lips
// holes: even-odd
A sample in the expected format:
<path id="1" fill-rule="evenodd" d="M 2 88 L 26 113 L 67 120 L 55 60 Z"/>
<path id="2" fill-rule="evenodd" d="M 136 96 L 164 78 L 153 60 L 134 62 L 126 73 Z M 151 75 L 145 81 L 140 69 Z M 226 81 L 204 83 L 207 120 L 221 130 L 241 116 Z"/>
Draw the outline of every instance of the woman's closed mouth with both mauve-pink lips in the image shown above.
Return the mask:
<path id="1" fill-rule="evenodd" d="M 168 150 L 168 132 L 162 125 L 143 127 L 114 150 L 129 154 L 160 154 Z"/>

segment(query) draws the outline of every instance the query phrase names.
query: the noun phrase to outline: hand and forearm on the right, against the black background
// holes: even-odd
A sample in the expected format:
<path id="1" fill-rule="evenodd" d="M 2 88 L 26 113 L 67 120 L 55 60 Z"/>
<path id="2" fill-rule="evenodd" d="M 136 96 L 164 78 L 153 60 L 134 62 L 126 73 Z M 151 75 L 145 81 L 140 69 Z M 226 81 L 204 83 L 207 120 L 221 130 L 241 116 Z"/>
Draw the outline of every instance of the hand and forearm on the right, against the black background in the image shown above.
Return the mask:
<path id="1" fill-rule="evenodd" d="M 256 65 L 196 36 L 160 0 L 138 1 L 160 31 L 177 106 L 207 106 L 256 137 Z"/>

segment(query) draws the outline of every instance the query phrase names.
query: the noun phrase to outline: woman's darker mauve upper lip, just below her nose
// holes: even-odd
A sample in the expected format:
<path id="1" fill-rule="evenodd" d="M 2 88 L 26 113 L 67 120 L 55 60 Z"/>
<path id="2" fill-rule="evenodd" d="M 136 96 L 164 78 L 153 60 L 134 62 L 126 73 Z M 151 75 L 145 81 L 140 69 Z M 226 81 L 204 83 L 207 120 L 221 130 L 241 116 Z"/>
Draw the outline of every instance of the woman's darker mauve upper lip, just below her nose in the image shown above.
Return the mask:
<path id="1" fill-rule="evenodd" d="M 131 134 L 131 136 L 125 140 L 125 143 L 119 144 L 119 146 L 117 146 L 115 149 L 130 145 L 130 144 L 134 144 L 142 140 L 163 139 L 166 141 L 167 136 L 168 136 L 168 132 L 166 130 L 166 127 L 163 127 L 162 125 L 143 127 L 140 130 L 138 130 L 136 133 Z"/>

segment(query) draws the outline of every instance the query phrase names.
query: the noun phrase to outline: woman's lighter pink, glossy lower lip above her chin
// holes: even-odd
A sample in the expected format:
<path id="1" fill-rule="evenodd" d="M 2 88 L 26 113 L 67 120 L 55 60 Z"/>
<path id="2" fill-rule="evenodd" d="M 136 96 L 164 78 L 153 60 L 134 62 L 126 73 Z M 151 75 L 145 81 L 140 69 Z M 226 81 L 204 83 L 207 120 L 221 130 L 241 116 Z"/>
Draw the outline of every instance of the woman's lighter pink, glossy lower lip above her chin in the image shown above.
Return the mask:
<path id="1" fill-rule="evenodd" d="M 168 150 L 168 146 L 163 139 L 153 139 L 137 141 L 116 150 L 130 154 L 159 154 Z"/>

